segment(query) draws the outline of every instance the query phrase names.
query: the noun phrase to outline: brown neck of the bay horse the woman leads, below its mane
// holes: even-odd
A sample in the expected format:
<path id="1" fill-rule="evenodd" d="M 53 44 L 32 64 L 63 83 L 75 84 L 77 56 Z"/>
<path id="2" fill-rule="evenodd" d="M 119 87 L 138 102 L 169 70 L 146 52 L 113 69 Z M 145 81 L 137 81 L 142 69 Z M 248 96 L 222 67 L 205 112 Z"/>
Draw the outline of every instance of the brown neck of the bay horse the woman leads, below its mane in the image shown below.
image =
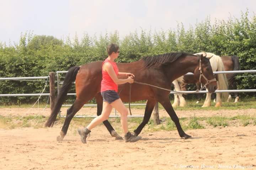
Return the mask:
<path id="1" fill-rule="evenodd" d="M 186 56 L 179 58 L 168 66 L 168 77 L 175 80 L 189 72 L 194 73 L 194 70 L 196 67 L 198 67 L 198 65 L 199 62 L 197 56 Z"/>

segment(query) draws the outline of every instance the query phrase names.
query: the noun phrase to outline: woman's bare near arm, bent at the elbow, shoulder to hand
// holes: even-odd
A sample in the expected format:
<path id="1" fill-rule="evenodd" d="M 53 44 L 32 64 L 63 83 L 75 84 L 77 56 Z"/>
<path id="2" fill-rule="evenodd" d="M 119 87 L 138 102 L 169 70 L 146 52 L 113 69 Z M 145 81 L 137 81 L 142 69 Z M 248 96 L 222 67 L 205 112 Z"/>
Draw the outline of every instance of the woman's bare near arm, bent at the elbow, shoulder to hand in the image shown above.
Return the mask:
<path id="1" fill-rule="evenodd" d="M 104 71 L 110 75 L 111 79 L 114 81 L 116 84 L 125 84 L 125 83 L 133 83 L 133 79 L 131 77 L 128 77 L 127 79 L 118 79 L 116 73 L 114 72 L 114 69 L 110 63 L 105 63 L 103 68 Z"/>

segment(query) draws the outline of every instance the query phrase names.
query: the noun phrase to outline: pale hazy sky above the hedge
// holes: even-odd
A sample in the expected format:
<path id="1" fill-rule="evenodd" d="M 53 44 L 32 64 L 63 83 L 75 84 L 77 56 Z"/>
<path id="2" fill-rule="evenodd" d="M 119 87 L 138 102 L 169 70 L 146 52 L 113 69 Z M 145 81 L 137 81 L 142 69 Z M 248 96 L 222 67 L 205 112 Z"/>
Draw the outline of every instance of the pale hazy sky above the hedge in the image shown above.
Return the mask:
<path id="1" fill-rule="evenodd" d="M 120 38 L 136 30 L 185 29 L 208 16 L 211 22 L 239 18 L 241 11 L 256 13 L 255 0 L 0 0 L 0 42 L 18 42 L 21 33 L 52 35 L 75 34 L 81 39 L 114 33 Z"/>

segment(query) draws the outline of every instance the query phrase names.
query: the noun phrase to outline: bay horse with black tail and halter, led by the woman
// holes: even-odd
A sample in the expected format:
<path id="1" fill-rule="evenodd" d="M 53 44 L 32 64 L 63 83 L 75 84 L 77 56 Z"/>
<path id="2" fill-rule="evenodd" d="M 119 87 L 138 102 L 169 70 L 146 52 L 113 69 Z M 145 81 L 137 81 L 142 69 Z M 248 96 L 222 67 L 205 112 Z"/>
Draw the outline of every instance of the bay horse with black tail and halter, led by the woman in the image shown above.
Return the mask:
<path id="1" fill-rule="evenodd" d="M 71 84 L 75 81 L 76 100 L 67 110 L 66 118 L 62 130 L 60 131 L 60 136 L 57 136 L 57 141 L 61 141 L 65 137 L 70 121 L 76 112 L 78 112 L 86 102 L 94 97 L 97 101 L 97 115 L 101 114 L 103 104 L 100 93 L 102 62 L 103 61 L 98 61 L 88 63 L 83 66 L 72 67 L 68 70 L 68 73 L 66 73 L 63 86 L 57 96 L 54 109 L 45 124 L 46 127 L 53 126 L 57 114 L 65 100 L 65 96 L 68 93 Z M 207 85 L 209 92 L 214 92 L 217 89 L 216 81 L 212 81 L 214 79 L 214 74 L 212 67 L 210 66 L 209 59 L 203 55 L 192 55 L 183 52 L 166 53 L 152 57 L 143 57 L 141 60 L 132 63 L 117 63 L 117 66 L 119 68 L 119 72 L 133 73 L 135 75 L 134 80 L 137 82 L 147 83 L 162 88 L 168 89 L 171 87 L 173 80 L 183 74 L 192 72 L 194 73 L 194 78 L 197 80 L 199 77 L 204 77 L 201 82 L 202 84 Z M 129 98 L 131 102 L 147 100 L 143 121 L 138 128 L 134 130 L 135 135 L 140 134 L 143 127 L 148 123 L 156 102 L 160 102 L 174 121 L 180 137 L 185 139 L 191 137 L 181 128 L 179 119 L 169 100 L 169 91 L 137 83 L 131 84 L 131 91 L 129 91 L 129 87 L 130 84 L 128 83 L 118 86 L 118 92 L 122 90 L 119 95 L 123 102 L 128 102 Z M 111 136 L 116 137 L 116 139 L 122 138 L 113 129 L 108 120 L 103 121 L 103 124 L 106 126 Z"/>

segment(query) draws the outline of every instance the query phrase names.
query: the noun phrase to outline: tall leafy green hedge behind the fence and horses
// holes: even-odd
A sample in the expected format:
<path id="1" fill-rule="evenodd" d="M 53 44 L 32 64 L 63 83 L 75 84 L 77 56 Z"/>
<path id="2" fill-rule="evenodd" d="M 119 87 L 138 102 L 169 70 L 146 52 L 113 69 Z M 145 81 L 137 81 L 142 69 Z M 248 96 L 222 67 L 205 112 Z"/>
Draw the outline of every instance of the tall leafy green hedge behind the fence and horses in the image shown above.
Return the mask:
<path id="1" fill-rule="evenodd" d="M 185 30 L 178 24 L 174 30 L 133 32 L 119 38 L 118 32 L 90 37 L 84 34 L 81 40 L 75 36 L 59 40 L 53 36 L 21 34 L 14 45 L 0 43 L 0 77 L 47 76 L 49 72 L 68 70 L 72 66 L 104 60 L 106 47 L 111 42 L 120 46 L 117 62 L 133 62 L 144 56 L 167 52 L 197 53 L 212 52 L 217 55 L 237 55 L 241 70 L 256 69 L 256 16 L 248 12 L 240 18 L 215 21 L 210 18 Z M 249 74 L 239 74 L 249 75 Z M 255 74 L 252 74 L 255 75 Z M 238 89 L 256 89 L 256 77 L 237 78 Z M 40 93 L 41 81 L 0 81 L 0 94 Z M 49 92 L 49 88 L 45 92 Z M 74 88 L 73 88 L 74 92 Z M 253 96 L 255 93 L 241 94 Z M 33 102 L 37 97 L 1 97 L 0 104 Z M 47 100 L 44 97 L 44 100 Z"/>

